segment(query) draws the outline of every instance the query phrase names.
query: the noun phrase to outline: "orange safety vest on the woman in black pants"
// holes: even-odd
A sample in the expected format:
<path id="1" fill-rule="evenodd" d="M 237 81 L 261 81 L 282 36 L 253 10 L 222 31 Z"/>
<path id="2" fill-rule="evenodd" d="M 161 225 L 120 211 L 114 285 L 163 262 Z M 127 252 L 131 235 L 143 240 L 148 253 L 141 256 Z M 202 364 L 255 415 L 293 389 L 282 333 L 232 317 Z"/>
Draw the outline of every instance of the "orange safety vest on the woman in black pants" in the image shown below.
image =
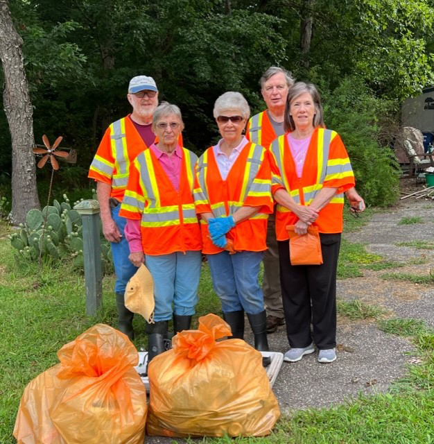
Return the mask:
<path id="1" fill-rule="evenodd" d="M 337 188 L 337 194 L 320 211 L 313 225 L 322 233 L 342 232 L 343 192 L 354 187 L 354 173 L 347 151 L 338 133 L 324 128 L 316 128 L 304 160 L 302 177 L 297 178 L 295 162 L 290 152 L 288 137 L 280 136 L 270 146 L 272 163 L 272 192 L 284 188 L 295 203 L 310 205 L 323 187 Z M 277 240 L 288 239 L 286 225 L 298 221 L 295 213 L 277 204 Z"/>

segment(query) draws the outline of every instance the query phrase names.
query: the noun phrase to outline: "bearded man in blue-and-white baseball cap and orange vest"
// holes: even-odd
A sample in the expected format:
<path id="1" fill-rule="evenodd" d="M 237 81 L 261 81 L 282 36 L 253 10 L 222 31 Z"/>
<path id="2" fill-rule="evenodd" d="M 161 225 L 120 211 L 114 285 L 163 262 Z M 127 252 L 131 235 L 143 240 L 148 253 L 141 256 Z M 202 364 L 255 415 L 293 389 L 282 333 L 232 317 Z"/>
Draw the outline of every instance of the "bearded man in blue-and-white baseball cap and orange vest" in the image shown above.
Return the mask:
<path id="1" fill-rule="evenodd" d="M 127 98 L 132 113 L 113 122 L 105 131 L 90 166 L 89 178 L 97 182 L 103 234 L 112 246 L 118 329 L 132 339 L 134 314 L 125 307 L 124 293 L 128 280 L 137 268 L 128 259 L 130 250 L 124 235 L 126 219 L 119 216 L 119 209 L 128 183 L 130 163 L 155 142 L 152 130 L 153 115 L 158 105 L 155 80 L 148 76 L 133 77 Z"/>

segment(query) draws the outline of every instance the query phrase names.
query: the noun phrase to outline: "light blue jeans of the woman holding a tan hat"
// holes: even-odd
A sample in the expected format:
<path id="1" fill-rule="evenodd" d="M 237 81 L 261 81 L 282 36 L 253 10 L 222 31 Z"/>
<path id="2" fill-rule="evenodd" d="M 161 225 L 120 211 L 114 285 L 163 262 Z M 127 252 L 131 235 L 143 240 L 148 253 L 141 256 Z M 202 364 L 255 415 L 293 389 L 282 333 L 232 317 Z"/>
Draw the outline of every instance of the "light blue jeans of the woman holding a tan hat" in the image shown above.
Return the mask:
<path id="1" fill-rule="evenodd" d="M 191 316 L 198 302 L 202 253 L 186 251 L 168 255 L 145 255 L 154 280 L 155 321 L 168 321 L 175 313 Z M 173 309 L 172 309 L 173 304 Z"/>

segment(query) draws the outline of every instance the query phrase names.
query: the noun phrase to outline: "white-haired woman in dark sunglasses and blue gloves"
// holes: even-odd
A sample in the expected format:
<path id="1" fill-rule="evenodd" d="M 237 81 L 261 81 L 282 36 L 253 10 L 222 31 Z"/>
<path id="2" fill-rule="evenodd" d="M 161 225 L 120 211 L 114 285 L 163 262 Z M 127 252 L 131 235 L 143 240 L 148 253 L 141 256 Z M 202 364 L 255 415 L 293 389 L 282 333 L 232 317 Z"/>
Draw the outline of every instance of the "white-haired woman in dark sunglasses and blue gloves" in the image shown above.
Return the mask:
<path id="1" fill-rule="evenodd" d="M 216 100 L 214 118 L 223 138 L 198 161 L 194 198 L 203 253 L 232 337 L 243 339 L 247 314 L 254 347 L 268 351 L 258 275 L 273 207 L 270 163 L 265 148 L 243 135 L 249 116 L 249 105 L 239 92 L 226 92 Z M 269 363 L 264 359 L 264 365 Z"/>

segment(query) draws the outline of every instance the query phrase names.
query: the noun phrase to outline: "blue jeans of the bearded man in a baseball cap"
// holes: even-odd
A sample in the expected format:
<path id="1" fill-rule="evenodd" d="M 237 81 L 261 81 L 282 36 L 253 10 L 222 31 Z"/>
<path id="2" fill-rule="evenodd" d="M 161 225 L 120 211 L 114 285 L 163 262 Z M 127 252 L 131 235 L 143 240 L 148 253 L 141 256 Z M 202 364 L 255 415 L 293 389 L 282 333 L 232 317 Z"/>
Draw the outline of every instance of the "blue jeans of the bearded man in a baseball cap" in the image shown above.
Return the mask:
<path id="1" fill-rule="evenodd" d="M 128 241 L 125 239 L 125 225 L 127 220 L 124 217 L 119 216 L 119 210 L 121 210 L 121 205 L 112 208 L 112 218 L 119 228 L 122 234 L 120 242 L 111 242 L 114 273 L 116 273 L 116 284 L 114 284 L 114 292 L 118 294 L 125 293 L 125 287 L 128 281 L 137 271 L 135 267 L 128 259 L 130 255 L 130 247 L 128 246 Z"/>

